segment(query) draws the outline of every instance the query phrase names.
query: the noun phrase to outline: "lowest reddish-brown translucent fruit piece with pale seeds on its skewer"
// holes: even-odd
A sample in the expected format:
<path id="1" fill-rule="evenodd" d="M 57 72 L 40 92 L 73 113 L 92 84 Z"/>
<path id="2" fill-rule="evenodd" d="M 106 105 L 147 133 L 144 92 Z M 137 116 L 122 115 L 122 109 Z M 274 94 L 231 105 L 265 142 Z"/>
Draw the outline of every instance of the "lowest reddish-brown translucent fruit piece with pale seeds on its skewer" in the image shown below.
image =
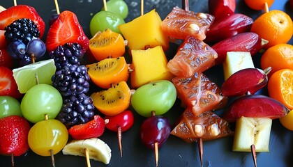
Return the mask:
<path id="1" fill-rule="evenodd" d="M 193 109 L 188 107 L 177 121 L 171 134 L 188 143 L 197 141 L 197 138 L 210 141 L 233 134 L 229 123 L 211 111 L 196 116 Z"/>

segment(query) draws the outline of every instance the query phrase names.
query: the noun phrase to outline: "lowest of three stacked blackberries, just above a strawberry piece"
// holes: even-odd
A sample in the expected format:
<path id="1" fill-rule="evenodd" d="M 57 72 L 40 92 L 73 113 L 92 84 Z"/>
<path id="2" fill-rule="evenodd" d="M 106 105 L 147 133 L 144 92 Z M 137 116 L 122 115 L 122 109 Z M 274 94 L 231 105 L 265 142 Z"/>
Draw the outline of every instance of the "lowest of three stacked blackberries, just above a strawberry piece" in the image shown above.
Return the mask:
<path id="1" fill-rule="evenodd" d="M 63 106 L 57 119 L 66 126 L 87 123 L 93 120 L 93 100 L 87 95 L 80 94 L 63 99 Z"/>

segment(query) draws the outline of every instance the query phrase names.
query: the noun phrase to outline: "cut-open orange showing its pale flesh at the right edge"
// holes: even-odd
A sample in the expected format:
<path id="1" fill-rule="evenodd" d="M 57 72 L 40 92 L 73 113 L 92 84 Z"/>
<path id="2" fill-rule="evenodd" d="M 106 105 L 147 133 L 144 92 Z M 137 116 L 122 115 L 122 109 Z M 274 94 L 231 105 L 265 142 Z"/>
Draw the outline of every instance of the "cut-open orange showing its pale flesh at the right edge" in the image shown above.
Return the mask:
<path id="1" fill-rule="evenodd" d="M 273 73 L 268 83 L 269 96 L 288 109 L 293 109 L 293 70 L 283 69 Z"/>

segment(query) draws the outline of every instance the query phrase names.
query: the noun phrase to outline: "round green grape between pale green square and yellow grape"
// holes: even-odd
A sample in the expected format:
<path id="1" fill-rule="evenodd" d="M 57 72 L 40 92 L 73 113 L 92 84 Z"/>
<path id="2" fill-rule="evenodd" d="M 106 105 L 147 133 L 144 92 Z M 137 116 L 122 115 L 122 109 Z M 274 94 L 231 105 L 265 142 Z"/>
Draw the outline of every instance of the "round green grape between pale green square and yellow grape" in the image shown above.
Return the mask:
<path id="1" fill-rule="evenodd" d="M 59 91 L 47 84 L 38 84 L 30 88 L 22 98 L 20 109 L 24 118 L 29 122 L 54 119 L 62 106 L 62 97 Z"/>

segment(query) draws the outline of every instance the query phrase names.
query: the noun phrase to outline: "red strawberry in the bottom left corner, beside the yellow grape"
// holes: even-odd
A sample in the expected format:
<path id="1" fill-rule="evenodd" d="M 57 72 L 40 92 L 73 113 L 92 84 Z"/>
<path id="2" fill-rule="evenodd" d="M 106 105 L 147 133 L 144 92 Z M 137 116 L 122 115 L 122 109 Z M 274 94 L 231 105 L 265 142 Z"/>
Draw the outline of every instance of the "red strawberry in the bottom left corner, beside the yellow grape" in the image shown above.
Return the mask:
<path id="1" fill-rule="evenodd" d="M 20 116 L 0 119 L 0 154 L 20 156 L 29 150 L 29 122 Z"/>

